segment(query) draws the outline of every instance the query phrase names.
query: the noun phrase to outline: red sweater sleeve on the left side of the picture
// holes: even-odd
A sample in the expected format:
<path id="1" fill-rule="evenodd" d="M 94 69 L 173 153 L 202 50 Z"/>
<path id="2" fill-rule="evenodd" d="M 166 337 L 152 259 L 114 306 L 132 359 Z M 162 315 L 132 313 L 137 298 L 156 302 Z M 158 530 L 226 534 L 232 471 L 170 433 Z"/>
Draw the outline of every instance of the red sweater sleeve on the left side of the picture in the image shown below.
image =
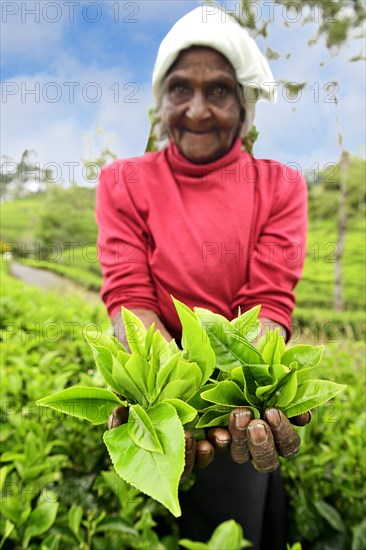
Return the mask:
<path id="1" fill-rule="evenodd" d="M 111 317 L 121 306 L 159 314 L 148 265 L 148 227 L 123 175 L 123 163 L 109 165 L 101 171 L 97 188 L 101 297 Z"/>

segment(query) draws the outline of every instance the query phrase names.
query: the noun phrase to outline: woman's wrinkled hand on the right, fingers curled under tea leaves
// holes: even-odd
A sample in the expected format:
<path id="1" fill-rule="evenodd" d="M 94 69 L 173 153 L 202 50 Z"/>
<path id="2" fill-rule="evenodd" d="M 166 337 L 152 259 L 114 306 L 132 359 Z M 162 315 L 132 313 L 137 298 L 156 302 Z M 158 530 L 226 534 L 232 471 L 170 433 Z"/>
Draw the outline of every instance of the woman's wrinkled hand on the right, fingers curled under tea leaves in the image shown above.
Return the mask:
<path id="1" fill-rule="evenodd" d="M 267 409 L 265 420 L 253 420 L 250 409 L 234 409 L 230 415 L 228 429 L 211 428 L 208 441 L 214 449 L 228 449 L 231 458 L 238 464 L 248 462 L 260 472 L 273 472 L 279 463 L 279 456 L 289 458 L 300 448 L 300 437 L 291 423 L 304 426 L 311 419 L 311 412 L 291 418 L 291 421 L 277 409 Z"/>

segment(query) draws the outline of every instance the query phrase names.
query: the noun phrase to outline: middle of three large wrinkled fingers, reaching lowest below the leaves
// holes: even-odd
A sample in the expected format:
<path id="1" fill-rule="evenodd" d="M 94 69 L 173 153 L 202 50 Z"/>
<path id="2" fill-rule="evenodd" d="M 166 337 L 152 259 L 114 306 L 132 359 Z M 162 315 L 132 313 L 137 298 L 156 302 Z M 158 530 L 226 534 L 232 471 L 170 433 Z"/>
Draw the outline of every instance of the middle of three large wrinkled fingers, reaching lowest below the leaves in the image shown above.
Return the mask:
<path id="1" fill-rule="evenodd" d="M 259 472 L 273 472 L 280 465 L 273 435 L 263 420 L 252 420 L 247 428 L 247 439 L 253 466 Z"/>

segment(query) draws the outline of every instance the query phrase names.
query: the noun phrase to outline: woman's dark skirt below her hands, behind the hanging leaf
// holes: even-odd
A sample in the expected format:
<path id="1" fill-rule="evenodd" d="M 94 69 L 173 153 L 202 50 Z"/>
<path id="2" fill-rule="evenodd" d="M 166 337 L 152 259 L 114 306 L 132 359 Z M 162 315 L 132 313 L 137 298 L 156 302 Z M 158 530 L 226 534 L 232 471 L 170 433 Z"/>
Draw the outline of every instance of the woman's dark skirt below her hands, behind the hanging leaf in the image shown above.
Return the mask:
<path id="1" fill-rule="evenodd" d="M 181 492 L 181 538 L 206 542 L 223 521 L 236 520 L 252 550 L 286 549 L 286 495 L 280 471 L 257 472 L 251 463 L 235 464 L 225 452 L 195 470 L 196 483 Z M 222 549 L 225 550 L 225 549 Z"/>

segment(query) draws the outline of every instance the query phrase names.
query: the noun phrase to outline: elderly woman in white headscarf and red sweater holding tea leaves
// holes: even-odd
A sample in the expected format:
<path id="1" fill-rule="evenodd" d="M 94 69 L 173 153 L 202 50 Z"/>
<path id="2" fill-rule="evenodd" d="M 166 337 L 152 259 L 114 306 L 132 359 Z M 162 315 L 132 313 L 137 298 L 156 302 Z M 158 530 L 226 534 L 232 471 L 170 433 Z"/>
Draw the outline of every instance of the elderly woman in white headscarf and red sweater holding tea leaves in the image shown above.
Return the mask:
<path id="1" fill-rule="evenodd" d="M 100 176 L 102 298 L 124 343 L 121 306 L 179 340 L 171 294 L 229 319 L 239 307 L 261 304 L 263 325 L 287 337 L 291 331 L 306 185 L 297 172 L 243 151 L 256 100 L 274 99 L 273 77 L 247 32 L 225 12 L 206 10 L 180 19 L 159 49 L 153 96 L 161 150 L 117 161 Z M 229 429 L 211 430 L 207 441 L 187 434 L 185 475 L 194 461 L 212 463 L 195 470 L 194 487 L 181 495 L 183 536 L 206 540 L 234 518 L 255 549 L 285 548 L 284 493 L 274 470 L 279 454 L 298 450 L 299 438 L 279 411 L 265 420 L 239 409 Z M 212 461 L 214 448 L 229 452 Z"/>

